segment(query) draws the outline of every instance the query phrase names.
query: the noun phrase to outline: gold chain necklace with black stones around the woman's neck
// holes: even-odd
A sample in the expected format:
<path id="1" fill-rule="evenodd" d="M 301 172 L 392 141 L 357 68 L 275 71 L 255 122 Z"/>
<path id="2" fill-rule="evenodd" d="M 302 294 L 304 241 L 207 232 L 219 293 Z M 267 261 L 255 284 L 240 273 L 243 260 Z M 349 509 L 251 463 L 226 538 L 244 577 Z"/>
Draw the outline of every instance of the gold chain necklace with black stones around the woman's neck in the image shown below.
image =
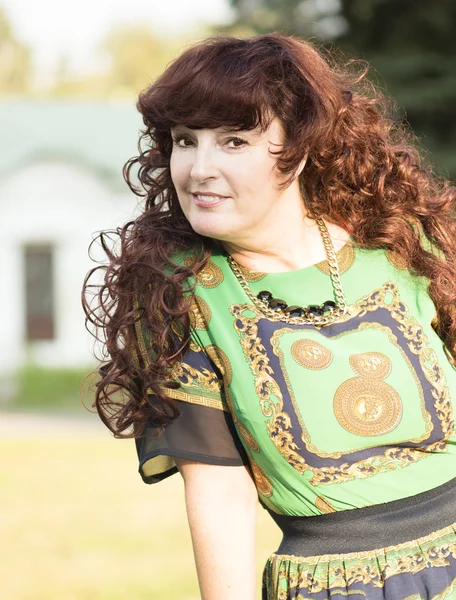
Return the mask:
<path id="1" fill-rule="evenodd" d="M 283 300 L 273 298 L 272 294 L 267 291 L 260 292 L 255 296 L 247 283 L 240 265 L 232 256 L 229 254 L 227 255 L 228 264 L 236 275 L 249 300 L 271 321 L 285 321 L 285 323 L 291 323 L 293 325 L 327 325 L 328 323 L 337 321 L 347 313 L 347 301 L 340 279 L 339 265 L 331 241 L 331 236 L 329 235 L 323 219 L 316 219 L 316 223 L 323 238 L 323 244 L 325 246 L 326 257 L 329 264 L 329 275 L 331 277 L 337 304 L 331 300 L 327 300 L 321 306 L 309 306 L 304 309 L 298 306 L 288 307 Z M 273 308 L 271 308 L 271 305 Z M 300 312 L 304 314 L 301 315 Z M 294 316 L 298 314 L 299 316 Z"/>

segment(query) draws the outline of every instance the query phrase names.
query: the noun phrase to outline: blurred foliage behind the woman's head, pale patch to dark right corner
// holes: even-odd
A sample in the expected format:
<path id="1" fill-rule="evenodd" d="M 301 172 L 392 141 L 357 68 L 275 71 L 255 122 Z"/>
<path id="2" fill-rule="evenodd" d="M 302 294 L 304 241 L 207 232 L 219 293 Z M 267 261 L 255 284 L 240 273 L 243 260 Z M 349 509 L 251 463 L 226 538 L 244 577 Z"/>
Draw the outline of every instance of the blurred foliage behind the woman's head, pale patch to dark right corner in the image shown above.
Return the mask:
<path id="1" fill-rule="evenodd" d="M 456 3 L 453 0 L 230 0 L 236 19 L 367 60 L 433 161 L 456 177 Z M 231 31 L 225 27 L 224 31 Z"/>

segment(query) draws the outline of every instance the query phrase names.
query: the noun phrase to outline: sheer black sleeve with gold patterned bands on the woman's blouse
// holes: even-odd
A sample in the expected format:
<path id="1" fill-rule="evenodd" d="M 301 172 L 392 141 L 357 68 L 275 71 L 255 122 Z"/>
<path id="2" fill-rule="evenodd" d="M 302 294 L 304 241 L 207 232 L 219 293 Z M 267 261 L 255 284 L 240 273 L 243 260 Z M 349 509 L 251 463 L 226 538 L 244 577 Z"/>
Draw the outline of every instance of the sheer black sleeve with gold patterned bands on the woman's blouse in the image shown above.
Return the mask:
<path id="1" fill-rule="evenodd" d="M 140 319 L 135 331 L 147 364 L 149 331 Z M 226 402 L 222 374 L 198 336 L 192 337 L 181 361 L 173 368 L 172 379 L 179 388 L 168 388 L 166 393 L 176 401 L 181 414 L 160 436 L 156 436 L 156 428 L 148 426 L 143 436 L 136 439 L 143 481 L 157 483 L 176 473 L 173 457 L 214 465 L 247 465 L 248 458 Z"/>

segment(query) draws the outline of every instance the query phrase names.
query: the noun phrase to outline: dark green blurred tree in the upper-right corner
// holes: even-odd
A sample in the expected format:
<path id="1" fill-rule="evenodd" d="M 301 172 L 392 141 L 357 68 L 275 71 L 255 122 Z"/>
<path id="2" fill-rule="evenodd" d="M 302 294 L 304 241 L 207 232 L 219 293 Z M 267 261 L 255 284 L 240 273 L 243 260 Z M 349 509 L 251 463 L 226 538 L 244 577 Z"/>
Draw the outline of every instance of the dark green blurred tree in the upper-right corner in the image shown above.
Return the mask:
<path id="1" fill-rule="evenodd" d="M 342 0 L 341 10 L 338 45 L 374 67 L 434 162 L 456 176 L 456 3 Z"/>

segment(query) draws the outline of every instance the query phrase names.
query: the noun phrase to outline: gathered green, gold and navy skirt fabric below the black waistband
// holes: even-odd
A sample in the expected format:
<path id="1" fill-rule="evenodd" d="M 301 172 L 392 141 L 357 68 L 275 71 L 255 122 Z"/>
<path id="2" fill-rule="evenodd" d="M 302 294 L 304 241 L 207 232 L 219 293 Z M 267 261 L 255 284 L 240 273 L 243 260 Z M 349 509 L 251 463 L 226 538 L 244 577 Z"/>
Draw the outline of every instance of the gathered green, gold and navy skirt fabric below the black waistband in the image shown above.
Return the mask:
<path id="1" fill-rule="evenodd" d="M 372 551 L 309 557 L 273 554 L 267 561 L 263 600 L 328 598 L 456 598 L 456 524 Z"/>

